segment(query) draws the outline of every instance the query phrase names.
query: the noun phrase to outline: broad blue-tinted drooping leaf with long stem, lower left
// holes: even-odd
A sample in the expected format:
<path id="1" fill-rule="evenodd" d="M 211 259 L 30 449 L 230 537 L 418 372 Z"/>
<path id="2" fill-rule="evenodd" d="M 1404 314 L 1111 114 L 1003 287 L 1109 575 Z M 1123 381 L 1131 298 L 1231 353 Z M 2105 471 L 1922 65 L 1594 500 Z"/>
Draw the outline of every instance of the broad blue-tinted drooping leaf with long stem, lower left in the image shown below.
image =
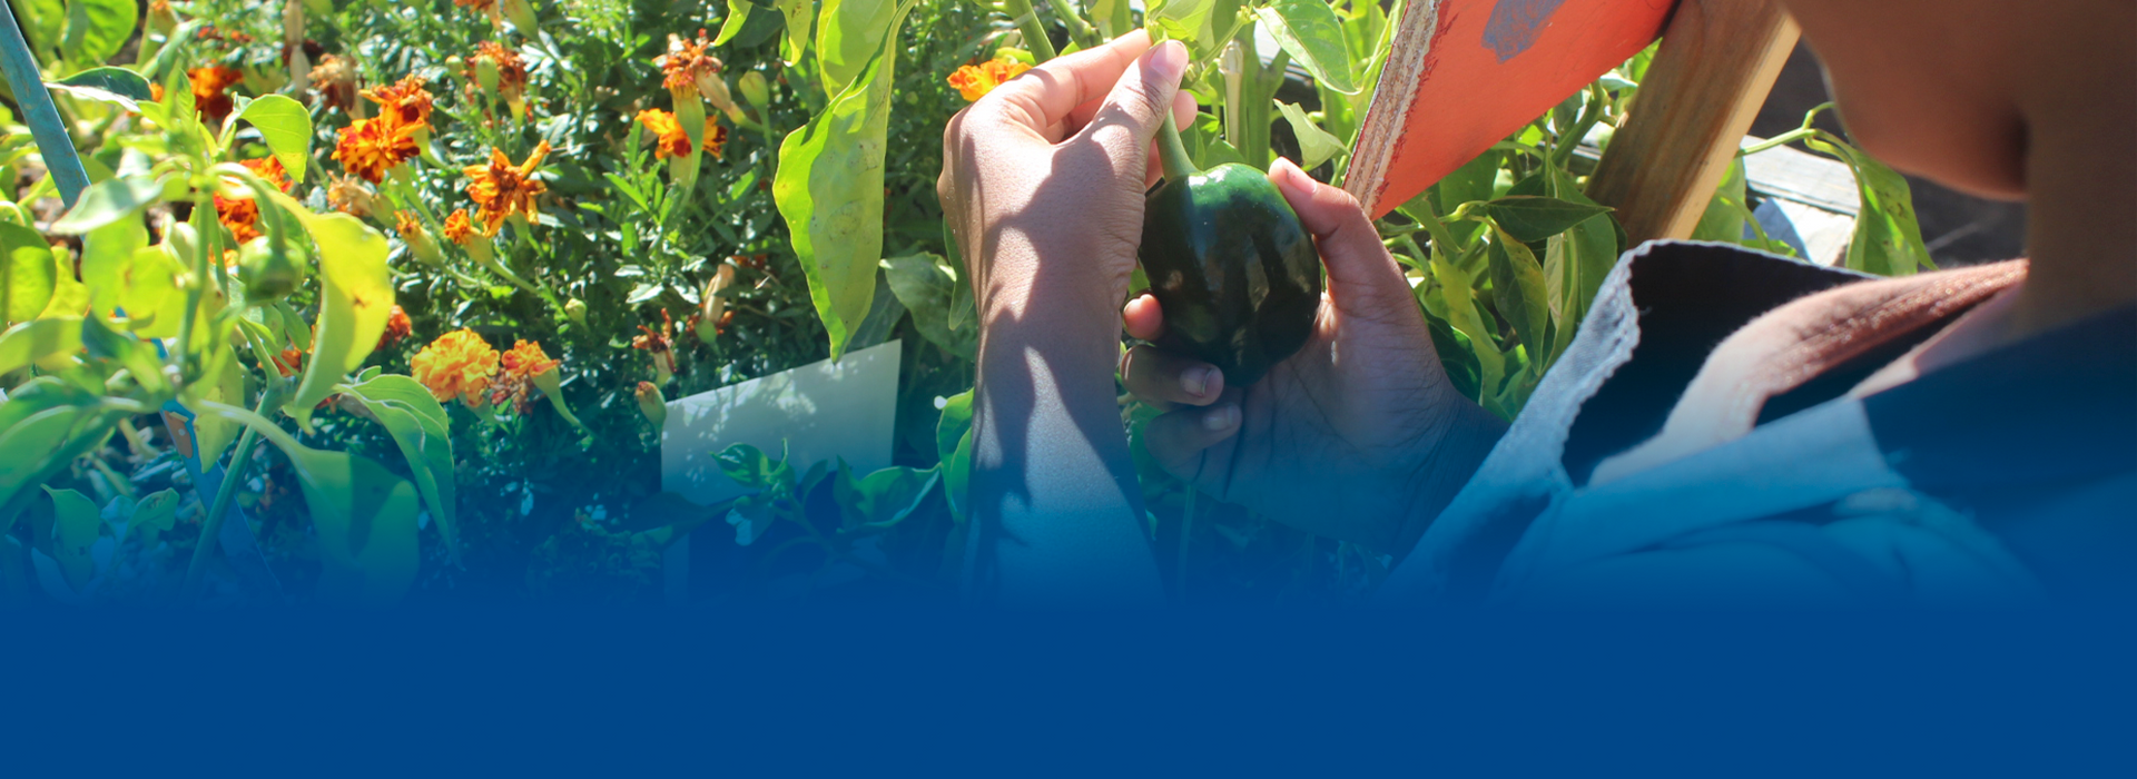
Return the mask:
<path id="1" fill-rule="evenodd" d="M 318 538 L 321 600 L 385 606 L 415 585 L 415 514 L 421 504 L 408 480 L 368 457 L 303 446 L 267 418 L 235 406 L 201 403 L 201 412 L 252 427 L 288 457 Z"/>

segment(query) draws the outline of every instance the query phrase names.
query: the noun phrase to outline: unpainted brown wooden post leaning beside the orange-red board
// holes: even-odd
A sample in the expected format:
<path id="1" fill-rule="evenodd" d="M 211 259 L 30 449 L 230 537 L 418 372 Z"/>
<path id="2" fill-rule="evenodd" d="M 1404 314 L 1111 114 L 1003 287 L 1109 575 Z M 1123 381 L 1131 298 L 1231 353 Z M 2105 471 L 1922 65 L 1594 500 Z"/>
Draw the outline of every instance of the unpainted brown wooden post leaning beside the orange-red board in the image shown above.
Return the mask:
<path id="1" fill-rule="evenodd" d="M 1778 0 L 1678 2 L 1633 113 L 1588 184 L 1635 245 L 1693 235 L 1795 38 Z"/>

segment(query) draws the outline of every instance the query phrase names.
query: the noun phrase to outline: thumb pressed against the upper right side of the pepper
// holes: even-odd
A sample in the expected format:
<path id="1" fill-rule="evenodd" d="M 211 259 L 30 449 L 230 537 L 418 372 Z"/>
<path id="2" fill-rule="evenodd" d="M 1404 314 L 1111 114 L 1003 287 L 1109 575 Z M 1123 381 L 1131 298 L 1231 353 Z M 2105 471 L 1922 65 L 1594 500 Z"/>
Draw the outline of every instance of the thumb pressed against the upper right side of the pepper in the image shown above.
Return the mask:
<path id="1" fill-rule="evenodd" d="M 1299 213 L 1299 226 L 1312 233 L 1314 245 L 1321 250 L 1321 265 L 1329 271 L 1329 299 L 1342 305 L 1376 299 L 1383 292 L 1410 297 L 1402 267 L 1387 254 L 1372 218 L 1351 192 L 1314 181 L 1286 158 L 1276 158 L 1276 164 L 1269 164 L 1269 181 Z"/>

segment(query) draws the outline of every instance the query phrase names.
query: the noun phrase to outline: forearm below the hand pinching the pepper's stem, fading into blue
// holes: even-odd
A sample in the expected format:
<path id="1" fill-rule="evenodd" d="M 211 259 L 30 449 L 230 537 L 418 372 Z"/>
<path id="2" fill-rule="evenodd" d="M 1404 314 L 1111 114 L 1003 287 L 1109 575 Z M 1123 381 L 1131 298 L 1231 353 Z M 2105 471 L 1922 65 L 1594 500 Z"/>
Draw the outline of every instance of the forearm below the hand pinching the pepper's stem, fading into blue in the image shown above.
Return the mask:
<path id="1" fill-rule="evenodd" d="M 972 406 L 977 595 L 1160 602 L 1116 401 L 1118 318 L 1098 297 L 1028 295 L 1030 277 L 1004 273 L 989 282 Z"/>

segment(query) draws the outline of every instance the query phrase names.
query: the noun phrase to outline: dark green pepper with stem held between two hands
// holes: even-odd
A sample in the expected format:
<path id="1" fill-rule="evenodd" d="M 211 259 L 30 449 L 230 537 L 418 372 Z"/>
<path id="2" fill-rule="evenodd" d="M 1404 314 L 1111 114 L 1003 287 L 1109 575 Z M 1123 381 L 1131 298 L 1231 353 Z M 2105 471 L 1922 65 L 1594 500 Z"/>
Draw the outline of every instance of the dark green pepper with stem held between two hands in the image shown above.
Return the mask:
<path id="1" fill-rule="evenodd" d="M 1227 162 L 1197 171 L 1165 117 L 1165 184 L 1143 203 L 1137 258 L 1169 341 L 1246 388 L 1295 354 L 1321 305 L 1321 254 L 1269 177 Z"/>

